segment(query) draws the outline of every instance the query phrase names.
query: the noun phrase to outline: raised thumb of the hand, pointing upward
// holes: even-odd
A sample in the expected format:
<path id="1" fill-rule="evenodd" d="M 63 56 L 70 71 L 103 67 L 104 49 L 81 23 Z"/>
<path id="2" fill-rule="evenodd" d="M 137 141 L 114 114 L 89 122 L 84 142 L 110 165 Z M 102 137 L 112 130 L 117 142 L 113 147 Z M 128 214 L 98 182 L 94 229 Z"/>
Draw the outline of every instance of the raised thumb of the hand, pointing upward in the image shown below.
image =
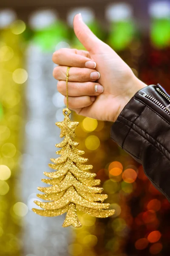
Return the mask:
<path id="1" fill-rule="evenodd" d="M 74 32 L 80 43 L 91 53 L 97 53 L 100 47 L 104 44 L 82 20 L 82 15 L 79 13 L 74 17 L 73 21 Z"/>

